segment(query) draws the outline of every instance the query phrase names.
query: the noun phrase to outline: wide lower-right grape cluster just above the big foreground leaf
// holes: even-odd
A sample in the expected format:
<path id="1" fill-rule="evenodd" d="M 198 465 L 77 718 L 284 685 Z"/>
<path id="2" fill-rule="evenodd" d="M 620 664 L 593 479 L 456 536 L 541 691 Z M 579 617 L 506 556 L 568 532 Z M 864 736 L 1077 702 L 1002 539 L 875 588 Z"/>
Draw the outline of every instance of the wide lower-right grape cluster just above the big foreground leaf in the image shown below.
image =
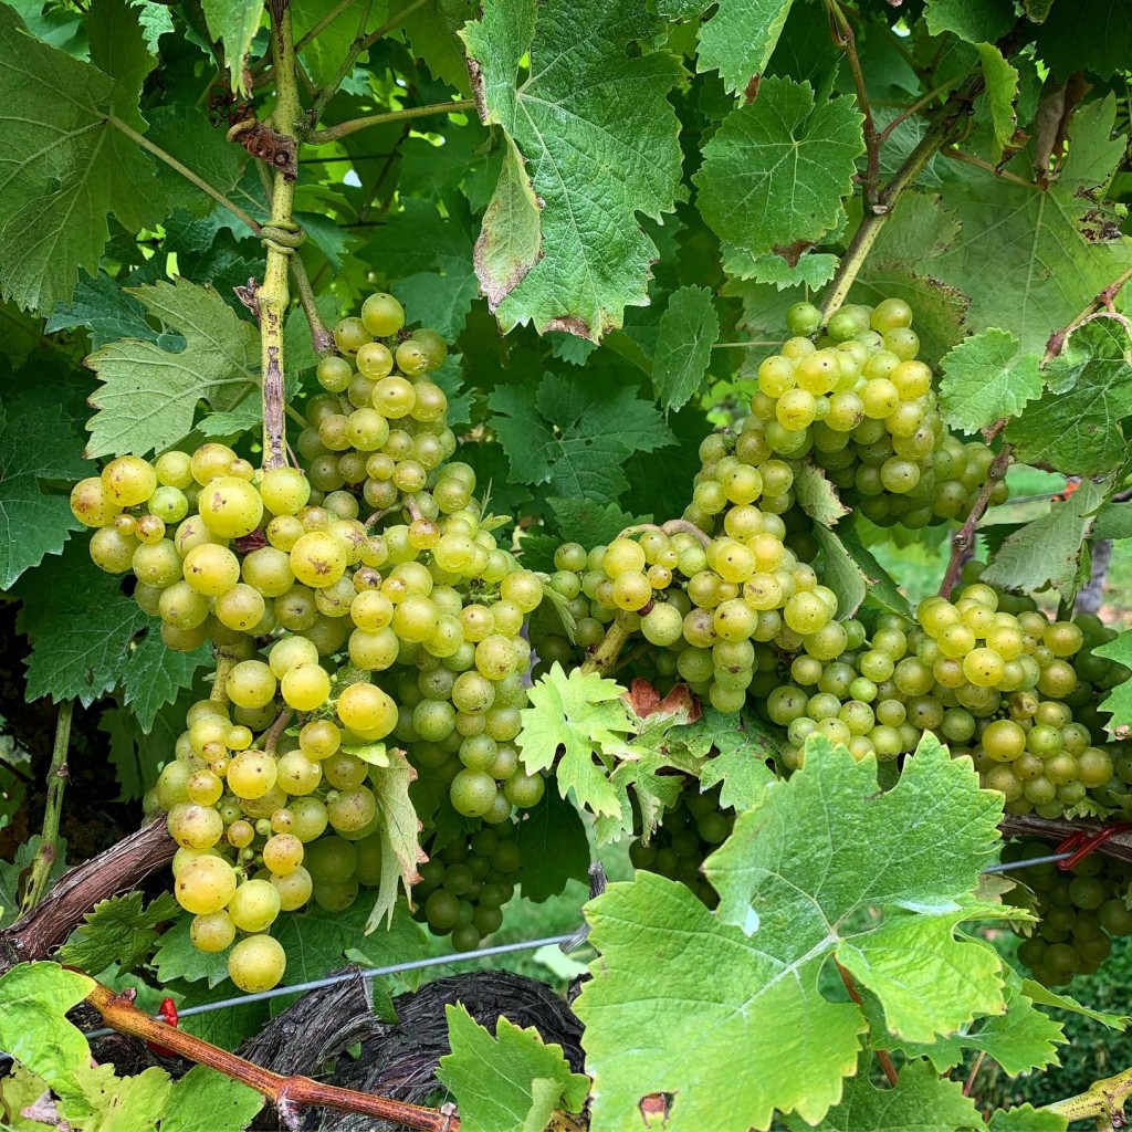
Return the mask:
<path id="1" fill-rule="evenodd" d="M 814 732 L 858 758 L 884 760 L 932 731 L 953 754 L 972 757 L 983 784 L 1000 790 L 1012 814 L 1126 809 L 1132 758 L 1110 741 L 1108 715 L 1097 709 L 1129 677 L 1092 653 L 1112 631 L 1091 615 L 1050 620 L 1031 599 L 979 582 L 981 568 L 969 564 L 954 601 L 925 599 L 915 625 L 877 618 L 867 648 L 864 627 L 846 621 L 856 646 L 832 663 L 783 659 L 789 681 L 764 710 L 788 729 L 787 766 L 798 765 Z"/>

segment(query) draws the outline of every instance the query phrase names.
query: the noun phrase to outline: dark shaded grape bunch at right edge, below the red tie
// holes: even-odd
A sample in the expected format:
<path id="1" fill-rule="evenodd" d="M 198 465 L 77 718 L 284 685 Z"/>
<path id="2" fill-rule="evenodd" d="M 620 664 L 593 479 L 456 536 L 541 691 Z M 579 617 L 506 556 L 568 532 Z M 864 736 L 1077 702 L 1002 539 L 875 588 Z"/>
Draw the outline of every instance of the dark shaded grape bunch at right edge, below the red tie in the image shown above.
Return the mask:
<path id="1" fill-rule="evenodd" d="M 1026 860 L 1048 851 L 1045 842 L 1012 841 L 1002 859 Z M 1039 918 L 1019 944 L 1018 958 L 1045 986 L 1066 986 L 1075 975 L 1092 975 L 1108 958 L 1113 936 L 1132 935 L 1127 861 L 1092 854 L 1066 872 L 1030 865 L 1010 875 L 1027 887 L 1013 889 L 1003 899 Z"/>

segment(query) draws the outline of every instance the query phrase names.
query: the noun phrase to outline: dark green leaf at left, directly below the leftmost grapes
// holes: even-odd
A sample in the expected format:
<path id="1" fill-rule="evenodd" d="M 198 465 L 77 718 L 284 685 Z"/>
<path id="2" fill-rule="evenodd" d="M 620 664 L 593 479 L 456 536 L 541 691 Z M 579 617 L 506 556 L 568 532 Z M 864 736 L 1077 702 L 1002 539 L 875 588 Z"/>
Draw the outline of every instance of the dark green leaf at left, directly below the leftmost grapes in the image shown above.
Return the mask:
<path id="1" fill-rule="evenodd" d="M 173 652 L 161 621 L 122 593 L 120 583 L 71 542 L 12 591 L 23 600 L 17 626 L 32 641 L 27 697 L 92 704 L 119 685 L 144 730 L 177 697 L 208 653 Z"/>

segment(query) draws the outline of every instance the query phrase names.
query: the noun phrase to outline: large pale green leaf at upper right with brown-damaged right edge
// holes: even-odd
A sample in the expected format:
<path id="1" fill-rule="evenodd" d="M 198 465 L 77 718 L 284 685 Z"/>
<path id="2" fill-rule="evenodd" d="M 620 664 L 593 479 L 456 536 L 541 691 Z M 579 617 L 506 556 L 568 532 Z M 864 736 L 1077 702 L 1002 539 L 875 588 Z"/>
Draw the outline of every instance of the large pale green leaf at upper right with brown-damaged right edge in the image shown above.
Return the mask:
<path id="1" fill-rule="evenodd" d="M 924 267 L 970 295 L 972 329 L 1010 327 L 1022 351 L 1040 354 L 1126 266 L 1132 239 L 1095 199 L 1124 149 L 1112 137 L 1115 114 L 1112 95 L 1077 111 L 1069 155 L 1048 188 L 974 170 L 949 194 L 959 238 Z"/>

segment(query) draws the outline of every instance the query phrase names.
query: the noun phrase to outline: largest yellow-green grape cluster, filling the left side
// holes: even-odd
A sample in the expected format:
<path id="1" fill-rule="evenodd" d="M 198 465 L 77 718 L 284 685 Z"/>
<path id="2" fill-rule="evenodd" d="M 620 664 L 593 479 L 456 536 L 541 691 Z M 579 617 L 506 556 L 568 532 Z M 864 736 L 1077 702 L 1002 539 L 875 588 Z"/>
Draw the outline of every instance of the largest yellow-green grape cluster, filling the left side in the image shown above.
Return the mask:
<path id="1" fill-rule="evenodd" d="M 496 544 L 474 473 L 449 458 L 429 376 L 447 348 L 403 324 L 389 295 L 338 324 L 297 441 L 306 471 L 258 473 L 206 444 L 121 456 L 71 496 L 92 558 L 132 573 L 165 643 L 217 652 L 213 696 L 149 801 L 181 847 L 194 942 L 224 951 L 241 933 L 229 969 L 248 990 L 282 977 L 265 934 L 281 911 L 342 910 L 380 883 L 386 741 L 484 835 L 544 789 L 514 746 L 542 584 Z"/>

